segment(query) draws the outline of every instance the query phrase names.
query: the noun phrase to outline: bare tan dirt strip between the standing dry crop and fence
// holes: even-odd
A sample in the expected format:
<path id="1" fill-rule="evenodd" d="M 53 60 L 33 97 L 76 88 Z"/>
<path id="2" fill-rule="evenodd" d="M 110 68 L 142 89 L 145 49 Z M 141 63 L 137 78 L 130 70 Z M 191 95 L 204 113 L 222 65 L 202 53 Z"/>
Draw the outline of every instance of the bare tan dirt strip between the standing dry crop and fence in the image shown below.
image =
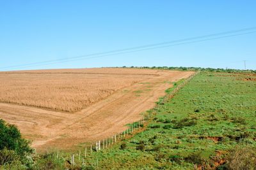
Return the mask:
<path id="1" fill-rule="evenodd" d="M 0 117 L 17 125 L 25 138 L 33 139 L 32 147 L 38 150 L 83 146 L 124 131 L 125 124 L 140 120 L 140 113 L 164 96 L 164 90 L 171 87 L 168 82 L 188 78 L 192 73 L 165 71 L 148 76 L 76 113 L 0 103 Z"/>

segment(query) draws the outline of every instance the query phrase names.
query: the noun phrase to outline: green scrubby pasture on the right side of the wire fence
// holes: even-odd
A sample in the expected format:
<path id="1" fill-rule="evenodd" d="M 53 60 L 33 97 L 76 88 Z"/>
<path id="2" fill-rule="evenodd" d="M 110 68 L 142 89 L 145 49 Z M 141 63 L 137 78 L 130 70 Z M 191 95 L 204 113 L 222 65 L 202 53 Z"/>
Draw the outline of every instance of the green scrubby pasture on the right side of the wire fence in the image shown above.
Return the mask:
<path id="1" fill-rule="evenodd" d="M 248 73 L 197 74 L 140 131 L 88 153 L 86 166 L 99 160 L 105 169 L 255 169 L 255 80 Z"/>

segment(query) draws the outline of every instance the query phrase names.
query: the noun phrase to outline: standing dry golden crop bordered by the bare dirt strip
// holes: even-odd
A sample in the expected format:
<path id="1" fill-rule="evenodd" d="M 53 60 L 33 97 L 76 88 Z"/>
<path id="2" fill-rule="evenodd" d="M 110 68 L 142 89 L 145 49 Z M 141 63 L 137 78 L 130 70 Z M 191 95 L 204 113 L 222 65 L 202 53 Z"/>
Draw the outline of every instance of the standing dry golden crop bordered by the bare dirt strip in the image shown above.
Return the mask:
<path id="1" fill-rule="evenodd" d="M 116 90 L 157 76 L 146 69 L 56 69 L 0 73 L 0 101 L 77 111 Z"/>

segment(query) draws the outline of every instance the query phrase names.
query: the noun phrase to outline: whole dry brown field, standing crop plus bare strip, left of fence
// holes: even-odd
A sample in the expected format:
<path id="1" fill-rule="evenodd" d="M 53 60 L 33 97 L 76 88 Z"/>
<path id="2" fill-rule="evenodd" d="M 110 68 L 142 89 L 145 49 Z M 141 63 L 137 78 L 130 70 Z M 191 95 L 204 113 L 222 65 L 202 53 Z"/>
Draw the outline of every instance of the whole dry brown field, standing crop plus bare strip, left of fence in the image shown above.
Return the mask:
<path id="1" fill-rule="evenodd" d="M 0 118 L 17 125 L 38 149 L 83 146 L 127 129 L 125 124 L 154 107 L 170 82 L 192 73 L 125 68 L 0 72 Z"/>

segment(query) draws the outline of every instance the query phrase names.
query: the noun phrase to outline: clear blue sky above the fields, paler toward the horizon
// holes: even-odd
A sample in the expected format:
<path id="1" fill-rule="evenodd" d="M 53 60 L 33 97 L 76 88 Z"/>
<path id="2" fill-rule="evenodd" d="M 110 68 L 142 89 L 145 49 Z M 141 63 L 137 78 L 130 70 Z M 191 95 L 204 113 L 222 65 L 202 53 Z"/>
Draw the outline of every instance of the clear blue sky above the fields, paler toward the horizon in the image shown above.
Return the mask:
<path id="1" fill-rule="evenodd" d="M 0 71 L 112 66 L 244 69 L 243 60 L 247 69 L 256 69 L 256 33 L 10 68 L 256 27 L 255 9 L 255 0 L 0 0 Z"/>

